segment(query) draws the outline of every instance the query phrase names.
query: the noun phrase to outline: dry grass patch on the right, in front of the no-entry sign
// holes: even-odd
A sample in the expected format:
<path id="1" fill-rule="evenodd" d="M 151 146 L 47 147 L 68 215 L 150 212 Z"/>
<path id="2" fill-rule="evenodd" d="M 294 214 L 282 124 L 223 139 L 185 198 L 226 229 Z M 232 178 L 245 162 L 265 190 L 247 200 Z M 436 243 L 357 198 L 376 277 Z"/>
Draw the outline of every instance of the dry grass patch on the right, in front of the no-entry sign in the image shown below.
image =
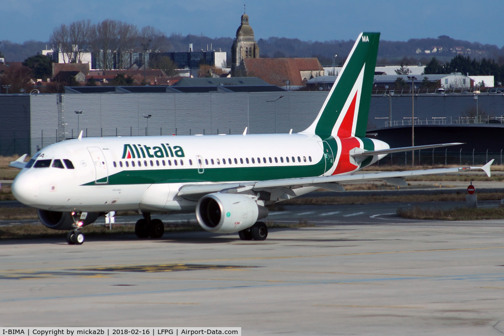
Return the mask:
<path id="1" fill-rule="evenodd" d="M 475 221 L 484 219 L 504 219 L 504 207 L 498 208 L 457 208 L 444 210 L 443 208 L 413 207 L 399 209 L 397 214 L 408 219 L 430 219 L 445 221 Z"/>

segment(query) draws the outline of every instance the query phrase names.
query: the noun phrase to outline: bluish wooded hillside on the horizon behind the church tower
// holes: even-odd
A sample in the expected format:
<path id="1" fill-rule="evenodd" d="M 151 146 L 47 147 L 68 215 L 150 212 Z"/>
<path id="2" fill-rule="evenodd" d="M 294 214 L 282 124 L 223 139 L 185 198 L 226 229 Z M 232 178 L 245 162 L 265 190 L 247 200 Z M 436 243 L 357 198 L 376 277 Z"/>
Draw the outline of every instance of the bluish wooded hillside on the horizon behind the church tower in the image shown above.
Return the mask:
<path id="1" fill-rule="evenodd" d="M 209 49 L 227 51 L 228 61 L 233 43 L 231 37 L 210 38 L 203 35 L 172 34 L 166 38 L 170 43 L 171 51 L 186 51 L 189 48 L 189 43 L 193 43 L 194 50 L 207 50 L 208 46 Z M 7 61 L 25 60 L 45 49 L 48 44 L 48 42 L 41 41 L 26 41 L 22 44 L 7 40 L 1 42 L 0 51 L 5 55 Z M 260 38 L 258 40 L 261 57 L 318 57 L 324 65 L 332 65 L 335 54 L 338 55 L 336 57 L 337 64 L 344 61 L 354 42 L 354 40 L 301 41 L 284 37 Z M 504 59 L 504 57 L 499 59 L 499 56 L 504 56 L 504 47 L 455 40 L 445 35 L 438 38 L 410 39 L 406 42 L 381 40 L 377 62 L 379 64 L 396 64 L 408 61 L 410 64 L 413 62 L 425 64 L 432 57 L 445 62 L 456 55 L 470 56 L 478 60 L 482 58 L 495 59 L 500 63 Z"/>

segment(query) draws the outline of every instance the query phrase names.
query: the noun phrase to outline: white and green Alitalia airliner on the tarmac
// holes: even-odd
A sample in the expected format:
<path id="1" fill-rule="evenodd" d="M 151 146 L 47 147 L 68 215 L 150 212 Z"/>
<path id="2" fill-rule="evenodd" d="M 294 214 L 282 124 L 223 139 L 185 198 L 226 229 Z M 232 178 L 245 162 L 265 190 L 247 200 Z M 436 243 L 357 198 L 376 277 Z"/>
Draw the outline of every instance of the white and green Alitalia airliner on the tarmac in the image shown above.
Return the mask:
<path id="1" fill-rule="evenodd" d="M 59 142 L 11 163 L 22 169 L 12 184 L 21 203 L 37 208 L 43 225 L 68 230 L 82 244 L 83 226 L 112 211 L 137 211 L 139 238 L 160 238 L 163 222 L 151 214 L 195 211 L 209 232 L 266 239 L 260 220 L 268 206 L 318 188 L 381 180 L 405 186 L 405 177 L 482 169 L 490 165 L 359 173 L 390 153 L 459 145 L 391 149 L 366 138 L 380 33 L 361 33 L 317 118 L 299 133 L 171 137 L 82 138 Z M 493 161 L 493 160 L 492 160 Z"/>

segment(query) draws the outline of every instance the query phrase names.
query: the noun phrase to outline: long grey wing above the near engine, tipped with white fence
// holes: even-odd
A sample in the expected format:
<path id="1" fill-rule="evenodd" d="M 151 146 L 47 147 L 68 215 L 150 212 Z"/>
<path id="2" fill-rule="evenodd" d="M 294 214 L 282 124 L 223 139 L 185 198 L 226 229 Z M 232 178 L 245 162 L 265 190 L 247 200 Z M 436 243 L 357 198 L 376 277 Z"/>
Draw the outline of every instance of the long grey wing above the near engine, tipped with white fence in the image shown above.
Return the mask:
<path id="1" fill-rule="evenodd" d="M 187 199 L 197 199 L 199 198 L 198 196 L 203 196 L 212 192 L 241 193 L 250 189 L 264 190 L 281 188 L 282 191 L 287 195 L 296 196 L 291 187 L 315 186 L 331 189 L 334 191 L 345 191 L 343 187 L 339 185 L 339 183 L 351 183 L 360 181 L 385 181 L 392 185 L 407 186 L 408 184 L 404 180 L 404 178 L 411 176 L 458 173 L 471 170 L 483 170 L 487 176 L 490 176 L 490 165 L 493 163 L 493 161 L 494 160 L 491 160 L 481 167 L 457 167 L 379 173 L 356 173 L 349 175 L 285 178 L 279 180 L 266 180 L 257 182 L 250 181 L 241 183 L 187 184 L 180 188 L 177 195 Z"/>

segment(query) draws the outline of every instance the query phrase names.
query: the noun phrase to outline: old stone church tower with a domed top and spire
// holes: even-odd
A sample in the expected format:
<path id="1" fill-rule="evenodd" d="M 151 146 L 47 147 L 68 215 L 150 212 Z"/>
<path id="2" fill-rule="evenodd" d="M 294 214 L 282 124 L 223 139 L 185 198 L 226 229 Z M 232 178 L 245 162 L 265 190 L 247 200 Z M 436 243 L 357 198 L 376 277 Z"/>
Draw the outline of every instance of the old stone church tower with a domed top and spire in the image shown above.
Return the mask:
<path id="1" fill-rule="evenodd" d="M 248 24 L 248 15 L 243 13 L 231 47 L 231 77 L 243 76 L 242 61 L 245 58 L 259 58 L 259 46 L 254 39 L 254 30 Z"/>

